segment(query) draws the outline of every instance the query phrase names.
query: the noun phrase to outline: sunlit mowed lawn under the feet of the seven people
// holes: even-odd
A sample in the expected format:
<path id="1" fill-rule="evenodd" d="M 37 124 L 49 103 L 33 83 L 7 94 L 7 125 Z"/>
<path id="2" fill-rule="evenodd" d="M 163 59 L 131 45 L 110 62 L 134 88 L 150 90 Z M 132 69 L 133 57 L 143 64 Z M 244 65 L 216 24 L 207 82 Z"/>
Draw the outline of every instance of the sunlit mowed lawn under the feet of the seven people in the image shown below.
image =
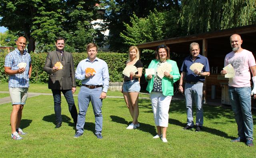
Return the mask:
<path id="1" fill-rule="evenodd" d="M 77 106 L 77 96 L 74 96 Z M 93 157 L 93 158 L 158 158 L 158 157 L 251 157 L 255 147 L 244 143 L 232 143 L 237 136 L 237 126 L 231 109 L 204 105 L 202 132 L 183 131 L 186 125 L 186 107 L 183 100 L 172 99 L 169 111 L 168 143 L 153 139 L 156 128 L 150 99 L 139 99 L 140 127 L 127 130 L 132 121 L 122 98 L 106 98 L 103 101 L 103 139 L 94 135 L 94 114 L 88 108 L 84 135 L 73 138 L 75 129 L 62 97 L 62 127 L 54 129 L 55 117 L 52 96 L 28 98 L 24 106 L 21 127 L 23 140 L 10 138 L 10 103 L 0 105 L 0 157 Z M 195 111 L 195 109 L 194 109 Z M 254 124 L 256 120 L 253 111 Z M 254 127 L 255 131 L 255 127 Z M 254 134 L 255 137 L 255 134 Z"/>

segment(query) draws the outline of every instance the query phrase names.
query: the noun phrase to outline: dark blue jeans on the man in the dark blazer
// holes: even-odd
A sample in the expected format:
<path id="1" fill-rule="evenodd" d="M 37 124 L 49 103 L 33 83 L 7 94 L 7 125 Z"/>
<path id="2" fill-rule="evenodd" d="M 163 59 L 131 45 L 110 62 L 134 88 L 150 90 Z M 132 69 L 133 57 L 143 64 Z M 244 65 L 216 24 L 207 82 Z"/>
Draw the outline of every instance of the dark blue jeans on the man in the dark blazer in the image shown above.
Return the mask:
<path id="1" fill-rule="evenodd" d="M 68 110 L 71 114 L 71 117 L 76 125 L 77 122 L 77 110 L 76 105 L 74 102 L 72 90 L 52 90 L 52 95 L 54 99 L 54 112 L 56 117 L 56 123 L 62 123 L 62 117 L 61 117 L 61 94 L 63 93 L 64 97 L 66 98 L 66 101 L 68 103 Z"/>

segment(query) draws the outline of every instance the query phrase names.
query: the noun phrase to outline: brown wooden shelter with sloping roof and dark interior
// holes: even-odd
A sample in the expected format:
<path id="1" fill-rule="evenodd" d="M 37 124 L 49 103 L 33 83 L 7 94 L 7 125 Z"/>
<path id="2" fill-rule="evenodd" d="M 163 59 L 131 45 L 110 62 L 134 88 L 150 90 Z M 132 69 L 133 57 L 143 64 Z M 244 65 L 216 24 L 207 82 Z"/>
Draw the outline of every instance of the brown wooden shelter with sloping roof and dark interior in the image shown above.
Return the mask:
<path id="1" fill-rule="evenodd" d="M 139 49 L 155 50 L 158 45 L 167 45 L 172 53 L 184 57 L 189 55 L 189 45 L 197 42 L 200 45 L 200 54 L 208 58 L 210 64 L 210 76 L 206 77 L 204 84 L 205 96 L 211 96 L 212 85 L 216 86 L 216 98 L 221 98 L 222 103 L 229 104 L 227 95 L 228 80 L 220 76 L 220 71 L 224 67 L 226 54 L 232 51 L 229 38 L 237 33 L 242 37 L 242 48 L 251 51 L 256 56 L 256 25 L 246 25 L 232 29 L 211 31 L 194 35 L 162 39 L 137 45 Z M 177 61 L 178 63 L 178 61 Z M 178 66 L 181 64 L 178 63 Z M 180 67 L 179 67 L 180 68 Z M 224 94 L 225 93 L 225 94 Z M 223 95 L 222 95 L 223 94 Z"/>

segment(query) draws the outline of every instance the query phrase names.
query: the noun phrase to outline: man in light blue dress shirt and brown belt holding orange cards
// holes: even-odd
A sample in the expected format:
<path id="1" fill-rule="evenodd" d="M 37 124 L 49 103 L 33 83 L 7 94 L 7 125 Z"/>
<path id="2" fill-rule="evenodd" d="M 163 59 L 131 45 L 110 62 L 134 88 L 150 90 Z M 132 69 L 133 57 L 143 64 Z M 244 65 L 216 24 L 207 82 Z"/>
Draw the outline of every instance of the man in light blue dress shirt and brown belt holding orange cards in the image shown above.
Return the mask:
<path id="1" fill-rule="evenodd" d="M 82 86 L 78 94 L 78 119 L 76 124 L 75 138 L 84 133 L 85 116 L 90 101 L 95 116 L 95 135 L 102 138 L 102 100 L 106 98 L 108 91 L 108 65 L 104 60 L 98 59 L 98 48 L 95 43 L 87 45 L 88 58 L 79 62 L 76 68 L 75 78 L 82 80 Z M 90 71 L 90 69 L 94 71 Z M 86 70 L 87 69 L 87 70 Z M 87 73 L 86 73 L 87 72 Z"/>

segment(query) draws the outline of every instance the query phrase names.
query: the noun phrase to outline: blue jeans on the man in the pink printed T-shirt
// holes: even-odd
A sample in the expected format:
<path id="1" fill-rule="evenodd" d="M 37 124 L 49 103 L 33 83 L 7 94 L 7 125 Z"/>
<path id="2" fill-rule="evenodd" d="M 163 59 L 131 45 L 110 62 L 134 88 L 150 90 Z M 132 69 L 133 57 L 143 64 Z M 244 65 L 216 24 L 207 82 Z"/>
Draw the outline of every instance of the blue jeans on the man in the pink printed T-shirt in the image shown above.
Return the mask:
<path id="1" fill-rule="evenodd" d="M 241 139 L 253 139 L 251 87 L 228 87 L 228 94 Z"/>

